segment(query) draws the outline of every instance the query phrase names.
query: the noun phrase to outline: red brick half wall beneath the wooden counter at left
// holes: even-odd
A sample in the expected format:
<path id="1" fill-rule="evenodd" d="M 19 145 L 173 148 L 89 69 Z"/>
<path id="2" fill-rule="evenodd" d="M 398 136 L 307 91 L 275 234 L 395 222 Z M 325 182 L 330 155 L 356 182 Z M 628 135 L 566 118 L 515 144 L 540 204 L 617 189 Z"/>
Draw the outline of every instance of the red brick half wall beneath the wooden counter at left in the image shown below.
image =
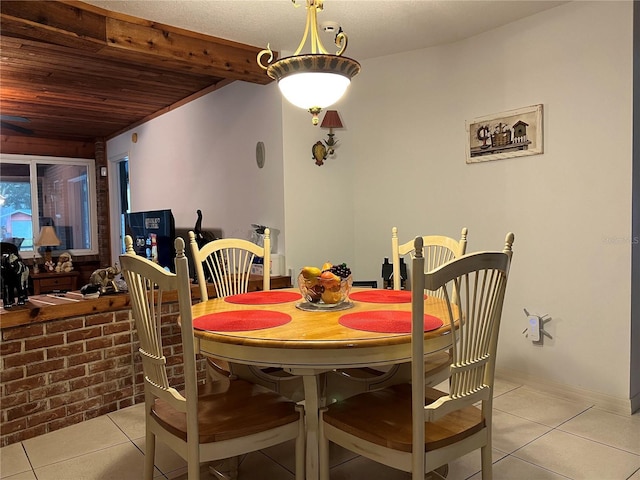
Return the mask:
<path id="1" fill-rule="evenodd" d="M 184 386 L 178 304 L 163 306 L 162 338 L 172 386 Z M 130 310 L 2 330 L 0 446 L 144 401 Z M 198 358 L 198 378 L 206 376 Z"/>

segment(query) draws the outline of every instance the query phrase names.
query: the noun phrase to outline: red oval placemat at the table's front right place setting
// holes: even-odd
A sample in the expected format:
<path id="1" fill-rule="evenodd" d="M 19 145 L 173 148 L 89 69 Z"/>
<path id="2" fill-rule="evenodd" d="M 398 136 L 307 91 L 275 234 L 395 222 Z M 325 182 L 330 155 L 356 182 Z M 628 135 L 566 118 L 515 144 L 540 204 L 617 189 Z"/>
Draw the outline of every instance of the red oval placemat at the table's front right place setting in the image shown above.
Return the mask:
<path id="1" fill-rule="evenodd" d="M 373 312 L 355 312 L 342 315 L 340 325 L 354 330 L 378 333 L 411 333 L 411 312 L 377 310 Z M 442 320 L 431 315 L 424 316 L 424 331 L 435 330 L 442 326 Z"/>

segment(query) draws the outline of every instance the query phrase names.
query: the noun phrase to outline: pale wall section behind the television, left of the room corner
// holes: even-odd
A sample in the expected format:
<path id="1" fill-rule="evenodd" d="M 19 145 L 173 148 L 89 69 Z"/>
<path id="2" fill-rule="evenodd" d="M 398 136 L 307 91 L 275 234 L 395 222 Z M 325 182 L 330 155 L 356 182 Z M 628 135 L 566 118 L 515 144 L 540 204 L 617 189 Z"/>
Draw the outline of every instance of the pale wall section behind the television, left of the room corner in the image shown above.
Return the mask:
<path id="1" fill-rule="evenodd" d="M 203 228 L 226 237 L 249 238 L 252 223 L 283 230 L 281 110 L 276 85 L 234 82 L 110 140 L 108 158 L 129 155 L 131 210 L 169 208 L 177 228 L 193 228 L 200 209 Z"/>

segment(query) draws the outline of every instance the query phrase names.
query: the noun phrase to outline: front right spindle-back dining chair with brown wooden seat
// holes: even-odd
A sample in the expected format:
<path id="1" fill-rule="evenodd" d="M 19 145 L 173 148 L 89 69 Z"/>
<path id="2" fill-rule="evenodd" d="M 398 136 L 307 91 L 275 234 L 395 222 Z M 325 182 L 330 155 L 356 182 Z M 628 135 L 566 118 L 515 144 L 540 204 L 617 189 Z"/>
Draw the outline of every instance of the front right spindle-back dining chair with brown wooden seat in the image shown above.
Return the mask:
<path id="1" fill-rule="evenodd" d="M 425 472 L 480 449 L 482 478 L 492 478 L 493 379 L 513 240 L 509 233 L 501 252 L 466 254 L 424 273 L 423 239 L 415 239 L 412 381 L 362 393 L 321 411 L 321 480 L 329 479 L 330 442 L 411 472 L 413 480 L 424 480 Z M 453 355 L 449 393 L 425 387 L 422 381 L 425 288 L 442 289 L 444 297 L 441 319 L 451 328 Z"/>

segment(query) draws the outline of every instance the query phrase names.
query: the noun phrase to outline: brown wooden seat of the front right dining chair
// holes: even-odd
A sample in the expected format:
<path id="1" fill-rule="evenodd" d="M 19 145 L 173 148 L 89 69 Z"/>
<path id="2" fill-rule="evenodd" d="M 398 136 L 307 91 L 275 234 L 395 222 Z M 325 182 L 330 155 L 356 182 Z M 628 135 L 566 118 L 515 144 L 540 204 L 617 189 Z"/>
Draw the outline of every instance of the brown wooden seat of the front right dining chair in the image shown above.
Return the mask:
<path id="1" fill-rule="evenodd" d="M 425 389 L 426 403 L 446 393 Z M 412 450 L 411 385 L 392 385 L 329 405 L 324 421 L 345 433 L 402 452 Z M 425 426 L 425 451 L 436 450 L 470 437 L 484 428 L 475 406 L 456 410 Z"/>

